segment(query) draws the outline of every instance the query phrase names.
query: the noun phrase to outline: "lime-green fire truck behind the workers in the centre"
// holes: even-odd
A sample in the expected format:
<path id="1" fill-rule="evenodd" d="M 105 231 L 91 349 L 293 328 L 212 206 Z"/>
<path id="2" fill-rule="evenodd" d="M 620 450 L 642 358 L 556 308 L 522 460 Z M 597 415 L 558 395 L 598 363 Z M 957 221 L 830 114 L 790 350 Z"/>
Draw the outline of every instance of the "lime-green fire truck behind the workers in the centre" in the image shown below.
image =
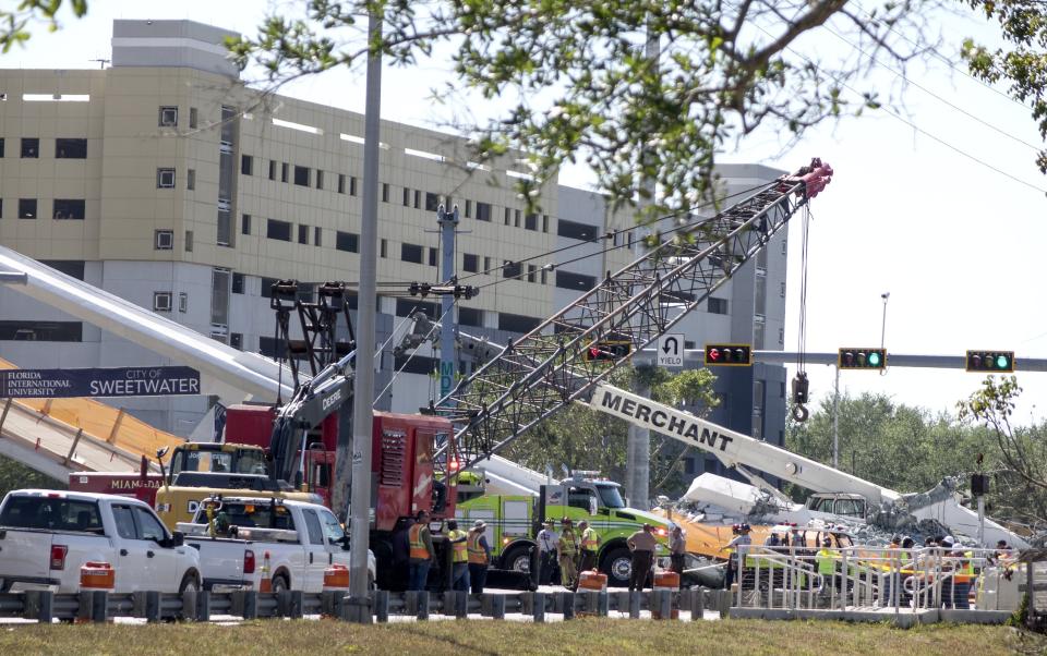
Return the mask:
<path id="1" fill-rule="evenodd" d="M 556 522 L 567 517 L 575 524 L 586 520 L 600 535 L 598 564 L 611 586 L 629 583 L 631 557 L 625 540 L 643 524 L 654 526 L 659 540 L 655 557 L 669 555 L 669 523 L 664 518 L 628 508 L 621 486 L 613 481 L 591 477 L 595 472 L 577 472 L 558 485 L 542 485 L 538 496 L 485 494 L 484 482 L 471 472 L 458 479 L 458 503 L 455 514 L 468 529 L 476 520 L 488 524 L 492 567 L 527 572 L 530 550 L 545 518 Z"/>

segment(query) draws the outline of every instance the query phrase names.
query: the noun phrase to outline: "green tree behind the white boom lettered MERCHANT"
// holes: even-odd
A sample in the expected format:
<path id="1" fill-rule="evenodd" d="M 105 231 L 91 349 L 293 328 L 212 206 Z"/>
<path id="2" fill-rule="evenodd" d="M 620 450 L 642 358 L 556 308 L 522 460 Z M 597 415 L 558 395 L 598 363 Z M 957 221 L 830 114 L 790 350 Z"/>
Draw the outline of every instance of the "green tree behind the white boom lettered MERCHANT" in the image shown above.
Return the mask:
<path id="1" fill-rule="evenodd" d="M 712 391 L 714 379 L 708 369 L 670 374 L 660 367 L 622 367 L 611 374 L 609 382 L 623 389 L 634 389 L 639 382 L 651 389 L 655 401 L 707 411 L 719 402 Z M 627 437 L 625 421 L 576 404 L 518 437 L 502 454 L 538 471 L 549 465 L 558 475 L 563 464 L 571 470 L 599 470 L 623 482 Z M 688 482 L 681 464 L 687 449 L 675 439 L 651 434 L 652 496 L 678 496 L 683 491 Z"/>

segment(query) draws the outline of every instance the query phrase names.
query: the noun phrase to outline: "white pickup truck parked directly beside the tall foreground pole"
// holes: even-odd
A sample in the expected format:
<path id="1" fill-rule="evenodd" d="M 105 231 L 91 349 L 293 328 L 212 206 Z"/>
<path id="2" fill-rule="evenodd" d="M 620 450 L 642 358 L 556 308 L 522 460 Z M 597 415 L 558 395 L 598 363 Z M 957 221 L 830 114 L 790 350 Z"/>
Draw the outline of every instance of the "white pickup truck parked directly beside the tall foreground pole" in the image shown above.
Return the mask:
<path id="1" fill-rule="evenodd" d="M 208 517 L 208 509 L 210 517 Z M 321 592 L 324 570 L 349 567 L 349 540 L 334 513 L 288 499 L 203 499 L 193 522 L 180 522 L 185 544 L 200 551 L 206 590 L 261 590 L 266 554 L 273 591 Z M 375 579 L 368 554 L 369 587 Z"/>

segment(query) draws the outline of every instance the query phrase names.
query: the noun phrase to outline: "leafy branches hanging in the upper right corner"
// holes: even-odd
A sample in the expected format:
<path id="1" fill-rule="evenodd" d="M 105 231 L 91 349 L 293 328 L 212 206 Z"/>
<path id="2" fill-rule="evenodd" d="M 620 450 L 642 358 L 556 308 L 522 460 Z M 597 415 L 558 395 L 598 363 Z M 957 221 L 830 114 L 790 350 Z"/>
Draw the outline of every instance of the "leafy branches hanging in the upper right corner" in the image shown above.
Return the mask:
<path id="1" fill-rule="evenodd" d="M 963 44 L 961 56 L 971 73 L 990 84 L 1010 83 L 1010 94 L 1032 109 L 1039 135 L 1047 139 L 1047 4 L 1030 0 L 967 0 L 975 11 L 1000 24 L 1011 47 L 989 49 L 973 39 Z M 1047 148 L 1036 165 L 1047 173 Z"/>

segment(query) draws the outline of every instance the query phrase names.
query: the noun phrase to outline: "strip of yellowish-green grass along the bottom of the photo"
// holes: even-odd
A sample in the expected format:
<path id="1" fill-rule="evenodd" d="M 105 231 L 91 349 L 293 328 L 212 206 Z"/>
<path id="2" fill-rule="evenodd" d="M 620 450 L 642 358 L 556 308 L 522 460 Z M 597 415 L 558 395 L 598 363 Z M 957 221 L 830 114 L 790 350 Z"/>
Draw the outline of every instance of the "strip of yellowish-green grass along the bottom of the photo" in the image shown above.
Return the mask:
<path id="1" fill-rule="evenodd" d="M 1006 627 L 726 620 L 570 622 L 446 620 L 358 627 L 335 621 L 258 620 L 240 625 L 49 625 L 0 630 L 0 654 L 768 654 L 852 656 L 1044 654 L 1047 639 Z"/>

